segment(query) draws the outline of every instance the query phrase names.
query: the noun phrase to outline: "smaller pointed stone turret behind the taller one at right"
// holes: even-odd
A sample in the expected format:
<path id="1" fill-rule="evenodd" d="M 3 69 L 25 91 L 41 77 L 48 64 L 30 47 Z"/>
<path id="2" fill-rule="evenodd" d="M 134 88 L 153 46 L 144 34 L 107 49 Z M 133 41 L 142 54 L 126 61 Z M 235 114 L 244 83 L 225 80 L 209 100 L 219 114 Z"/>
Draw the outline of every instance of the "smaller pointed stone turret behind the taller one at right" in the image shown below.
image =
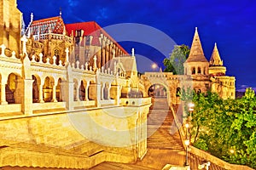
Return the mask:
<path id="1" fill-rule="evenodd" d="M 212 76 L 224 76 L 225 73 L 226 67 L 223 66 L 223 60 L 220 59 L 217 43 L 215 43 L 210 59 L 209 74 Z"/>

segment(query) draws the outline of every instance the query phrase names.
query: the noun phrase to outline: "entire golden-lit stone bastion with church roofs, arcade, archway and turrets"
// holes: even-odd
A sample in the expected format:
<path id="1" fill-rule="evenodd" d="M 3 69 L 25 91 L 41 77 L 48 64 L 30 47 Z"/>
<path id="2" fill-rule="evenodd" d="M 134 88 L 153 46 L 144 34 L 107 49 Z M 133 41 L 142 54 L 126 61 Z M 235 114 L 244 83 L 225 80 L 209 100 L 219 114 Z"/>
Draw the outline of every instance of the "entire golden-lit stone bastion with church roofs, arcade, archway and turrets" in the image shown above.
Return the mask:
<path id="1" fill-rule="evenodd" d="M 131 55 L 96 22 L 60 16 L 22 29 L 16 0 L 0 1 L 0 167 L 89 168 L 135 162 L 147 152 L 151 96 L 180 102 L 181 88 L 235 98 L 235 77 L 197 30 L 185 75 L 137 75 Z"/>

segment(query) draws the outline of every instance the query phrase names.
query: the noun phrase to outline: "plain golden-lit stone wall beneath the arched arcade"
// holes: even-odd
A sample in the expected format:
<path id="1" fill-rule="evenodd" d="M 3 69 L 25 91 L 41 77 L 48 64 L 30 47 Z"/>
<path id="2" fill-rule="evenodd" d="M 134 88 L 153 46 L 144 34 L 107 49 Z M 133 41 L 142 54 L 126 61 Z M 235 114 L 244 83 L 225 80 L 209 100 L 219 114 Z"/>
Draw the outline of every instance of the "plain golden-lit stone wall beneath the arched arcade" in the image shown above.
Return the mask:
<path id="1" fill-rule="evenodd" d="M 146 152 L 149 106 L 1 120 L 0 167 L 90 168 L 102 161 L 135 162 Z"/>

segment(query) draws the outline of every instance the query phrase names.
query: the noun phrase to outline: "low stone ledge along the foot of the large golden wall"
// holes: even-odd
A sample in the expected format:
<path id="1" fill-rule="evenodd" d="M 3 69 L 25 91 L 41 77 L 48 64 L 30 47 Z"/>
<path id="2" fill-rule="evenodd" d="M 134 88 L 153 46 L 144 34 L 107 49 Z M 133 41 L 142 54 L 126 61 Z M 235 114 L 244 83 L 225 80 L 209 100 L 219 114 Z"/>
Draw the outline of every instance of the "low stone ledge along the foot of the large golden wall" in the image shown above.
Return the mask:
<path id="1" fill-rule="evenodd" d="M 0 153 L 0 167 L 18 166 L 87 169 L 94 167 L 103 161 L 118 161 L 124 163 L 134 161 L 132 156 L 108 152 L 101 152 L 88 157 L 73 154 L 38 152 L 37 150 L 5 148 L 2 149 Z"/>

